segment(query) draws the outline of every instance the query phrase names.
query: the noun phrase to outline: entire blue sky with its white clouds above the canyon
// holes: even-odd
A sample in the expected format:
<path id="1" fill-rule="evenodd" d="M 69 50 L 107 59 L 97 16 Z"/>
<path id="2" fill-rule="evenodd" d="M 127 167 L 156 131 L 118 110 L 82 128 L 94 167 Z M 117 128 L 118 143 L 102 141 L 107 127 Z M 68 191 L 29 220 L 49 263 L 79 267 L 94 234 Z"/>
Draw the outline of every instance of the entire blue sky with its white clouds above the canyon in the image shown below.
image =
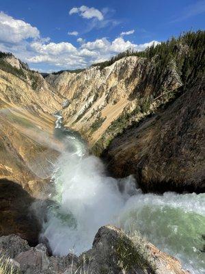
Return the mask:
<path id="1" fill-rule="evenodd" d="M 39 71 L 83 68 L 205 25 L 205 0 L 0 0 L 0 11 L 0 50 Z"/>

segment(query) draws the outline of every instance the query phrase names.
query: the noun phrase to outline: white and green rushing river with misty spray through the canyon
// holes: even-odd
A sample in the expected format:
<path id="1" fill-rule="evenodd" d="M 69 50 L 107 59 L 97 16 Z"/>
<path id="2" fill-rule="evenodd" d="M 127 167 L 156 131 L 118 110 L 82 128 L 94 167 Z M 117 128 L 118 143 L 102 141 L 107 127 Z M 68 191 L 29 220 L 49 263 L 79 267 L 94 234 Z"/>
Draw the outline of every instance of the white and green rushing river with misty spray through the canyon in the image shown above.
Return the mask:
<path id="1" fill-rule="evenodd" d="M 90 249 L 99 227 L 113 224 L 139 230 L 191 273 L 204 273 L 205 195 L 143 194 L 132 176 L 107 177 L 100 159 L 89 155 L 80 136 L 61 128 L 61 122 L 59 115 L 56 130 L 66 149 L 53 174 L 55 203 L 43 232 L 53 253 Z"/>

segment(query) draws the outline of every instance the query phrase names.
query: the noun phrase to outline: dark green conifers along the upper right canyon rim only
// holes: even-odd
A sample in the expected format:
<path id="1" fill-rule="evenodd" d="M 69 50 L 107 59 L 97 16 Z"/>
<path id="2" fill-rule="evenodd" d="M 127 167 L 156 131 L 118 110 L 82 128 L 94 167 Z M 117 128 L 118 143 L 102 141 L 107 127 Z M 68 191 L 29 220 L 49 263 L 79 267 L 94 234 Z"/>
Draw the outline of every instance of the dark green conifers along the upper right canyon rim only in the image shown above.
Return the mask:
<path id="1" fill-rule="evenodd" d="M 127 50 L 123 53 L 119 53 L 111 60 L 94 64 L 93 66 L 99 66 L 100 69 L 104 69 L 106 66 L 110 66 L 114 62 L 128 56 L 137 56 L 141 58 L 147 58 L 154 64 L 154 71 L 152 75 L 152 95 L 159 95 L 161 85 L 163 82 L 163 74 L 167 73 L 169 66 L 176 66 L 176 72 L 181 77 L 182 84 L 188 88 L 197 79 L 204 75 L 205 64 L 205 32 L 184 32 L 178 38 L 172 37 L 167 42 L 161 42 L 158 45 L 152 45 L 145 51 Z M 146 88 L 146 84 L 150 75 L 146 75 L 143 86 L 139 86 L 139 89 Z"/>

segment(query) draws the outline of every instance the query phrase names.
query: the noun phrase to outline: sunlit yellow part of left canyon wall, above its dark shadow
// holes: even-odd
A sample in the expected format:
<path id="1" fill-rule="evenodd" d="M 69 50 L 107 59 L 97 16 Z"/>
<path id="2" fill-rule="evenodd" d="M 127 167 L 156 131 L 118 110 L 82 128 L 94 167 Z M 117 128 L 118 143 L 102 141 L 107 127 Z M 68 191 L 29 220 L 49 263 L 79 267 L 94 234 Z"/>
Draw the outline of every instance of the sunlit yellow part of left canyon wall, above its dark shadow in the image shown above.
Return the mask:
<path id="1" fill-rule="evenodd" d="M 53 113 L 63 99 L 13 55 L 0 57 L 0 178 L 37 195 L 60 149 Z"/>

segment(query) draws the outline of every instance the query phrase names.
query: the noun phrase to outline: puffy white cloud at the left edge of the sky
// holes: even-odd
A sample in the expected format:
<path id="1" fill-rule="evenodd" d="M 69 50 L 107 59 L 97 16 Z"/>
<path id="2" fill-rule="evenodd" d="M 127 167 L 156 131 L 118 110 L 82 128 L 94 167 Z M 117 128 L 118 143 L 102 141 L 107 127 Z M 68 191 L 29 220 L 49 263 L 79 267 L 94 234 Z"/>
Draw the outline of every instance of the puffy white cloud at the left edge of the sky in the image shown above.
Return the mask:
<path id="1" fill-rule="evenodd" d="M 25 21 L 0 12 L 0 41 L 18 43 L 27 38 L 39 38 L 40 32 Z"/>

